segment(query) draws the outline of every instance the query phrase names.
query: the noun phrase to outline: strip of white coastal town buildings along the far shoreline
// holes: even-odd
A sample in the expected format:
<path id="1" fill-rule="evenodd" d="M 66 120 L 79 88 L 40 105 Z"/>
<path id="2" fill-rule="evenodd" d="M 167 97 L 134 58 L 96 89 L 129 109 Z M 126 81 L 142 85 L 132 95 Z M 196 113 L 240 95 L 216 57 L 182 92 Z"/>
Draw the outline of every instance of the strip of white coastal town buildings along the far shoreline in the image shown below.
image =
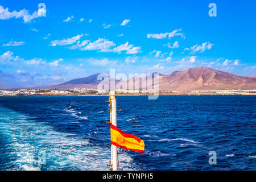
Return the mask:
<path id="1" fill-rule="evenodd" d="M 115 90 L 119 96 L 138 95 L 256 95 L 256 90 L 195 90 L 195 91 L 155 91 L 155 90 Z M 49 89 L 20 89 L 0 90 L 1 96 L 108 96 L 109 90 L 98 89 L 70 89 L 70 90 L 49 90 Z"/>

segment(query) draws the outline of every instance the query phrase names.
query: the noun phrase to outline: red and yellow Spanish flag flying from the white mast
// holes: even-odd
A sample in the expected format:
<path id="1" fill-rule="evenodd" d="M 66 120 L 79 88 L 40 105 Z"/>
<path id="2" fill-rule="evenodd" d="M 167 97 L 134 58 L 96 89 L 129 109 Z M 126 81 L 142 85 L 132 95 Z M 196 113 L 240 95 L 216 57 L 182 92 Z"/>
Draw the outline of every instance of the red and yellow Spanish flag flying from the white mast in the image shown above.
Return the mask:
<path id="1" fill-rule="evenodd" d="M 131 134 L 126 134 L 112 124 L 110 124 L 110 132 L 111 144 L 126 150 L 140 152 L 142 155 L 144 151 L 144 141 L 142 139 Z"/>

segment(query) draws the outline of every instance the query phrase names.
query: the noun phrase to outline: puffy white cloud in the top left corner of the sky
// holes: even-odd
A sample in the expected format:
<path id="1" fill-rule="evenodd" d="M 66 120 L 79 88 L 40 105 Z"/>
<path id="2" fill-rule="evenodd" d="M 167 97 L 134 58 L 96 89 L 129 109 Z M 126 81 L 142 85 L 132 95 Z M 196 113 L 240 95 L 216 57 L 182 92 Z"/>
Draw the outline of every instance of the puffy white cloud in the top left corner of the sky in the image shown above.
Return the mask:
<path id="1" fill-rule="evenodd" d="M 44 10 L 43 13 L 46 13 L 46 10 Z M 38 11 L 34 11 L 32 15 L 28 13 L 28 10 L 23 9 L 20 11 L 9 11 L 9 8 L 6 7 L 3 8 L 3 6 L 0 6 L 0 19 L 10 19 L 10 18 L 23 18 L 24 23 L 31 22 L 32 19 L 40 17 L 42 14 L 42 9 L 38 9 Z"/>

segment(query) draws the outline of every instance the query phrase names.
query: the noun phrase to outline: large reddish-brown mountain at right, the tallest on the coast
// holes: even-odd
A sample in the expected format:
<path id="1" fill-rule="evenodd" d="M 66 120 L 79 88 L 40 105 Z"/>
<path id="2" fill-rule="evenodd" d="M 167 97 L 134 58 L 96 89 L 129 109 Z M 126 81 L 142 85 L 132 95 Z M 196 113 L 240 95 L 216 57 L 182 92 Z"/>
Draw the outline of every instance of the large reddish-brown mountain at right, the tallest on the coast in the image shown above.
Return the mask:
<path id="1" fill-rule="evenodd" d="M 256 77 L 237 76 L 207 67 L 189 68 L 159 76 L 159 90 L 256 89 Z"/>

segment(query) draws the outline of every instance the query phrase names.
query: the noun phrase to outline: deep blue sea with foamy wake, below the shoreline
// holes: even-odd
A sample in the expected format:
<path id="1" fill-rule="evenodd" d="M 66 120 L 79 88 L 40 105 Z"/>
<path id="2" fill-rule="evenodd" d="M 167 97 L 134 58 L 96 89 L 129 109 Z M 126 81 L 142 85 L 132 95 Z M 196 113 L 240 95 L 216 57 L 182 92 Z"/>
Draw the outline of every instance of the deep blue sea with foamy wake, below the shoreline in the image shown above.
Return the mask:
<path id="1" fill-rule="evenodd" d="M 255 170 L 255 96 L 117 96 L 121 170 Z M 108 97 L 0 97 L 0 170 L 108 170 Z M 209 151 L 217 164 L 210 165 Z M 44 154 L 45 163 L 40 163 Z"/>

